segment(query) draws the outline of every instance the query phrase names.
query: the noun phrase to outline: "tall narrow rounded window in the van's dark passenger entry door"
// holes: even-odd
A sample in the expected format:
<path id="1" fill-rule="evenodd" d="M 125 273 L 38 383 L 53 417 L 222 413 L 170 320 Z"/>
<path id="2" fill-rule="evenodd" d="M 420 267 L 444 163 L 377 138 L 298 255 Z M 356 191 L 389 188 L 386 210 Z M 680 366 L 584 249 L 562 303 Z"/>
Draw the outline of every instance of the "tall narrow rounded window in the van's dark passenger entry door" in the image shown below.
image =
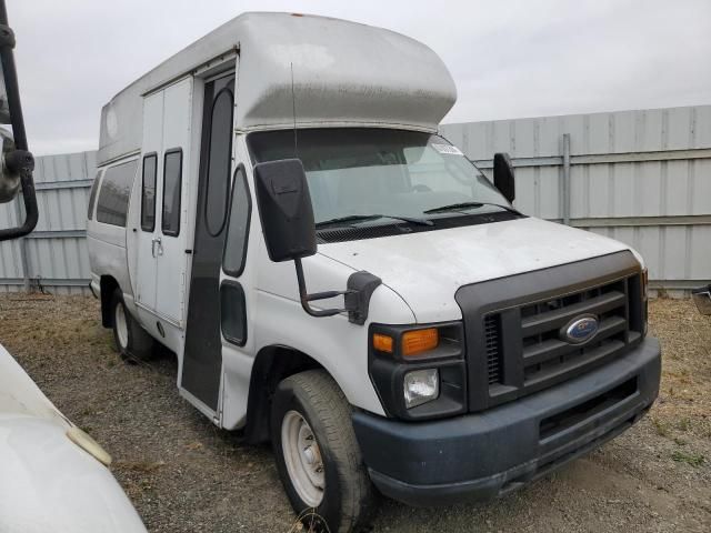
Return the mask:
<path id="1" fill-rule="evenodd" d="M 210 128 L 204 224 L 212 237 L 218 237 L 222 232 L 229 203 L 233 109 L 232 91 L 224 88 L 212 104 L 212 127 Z"/>

